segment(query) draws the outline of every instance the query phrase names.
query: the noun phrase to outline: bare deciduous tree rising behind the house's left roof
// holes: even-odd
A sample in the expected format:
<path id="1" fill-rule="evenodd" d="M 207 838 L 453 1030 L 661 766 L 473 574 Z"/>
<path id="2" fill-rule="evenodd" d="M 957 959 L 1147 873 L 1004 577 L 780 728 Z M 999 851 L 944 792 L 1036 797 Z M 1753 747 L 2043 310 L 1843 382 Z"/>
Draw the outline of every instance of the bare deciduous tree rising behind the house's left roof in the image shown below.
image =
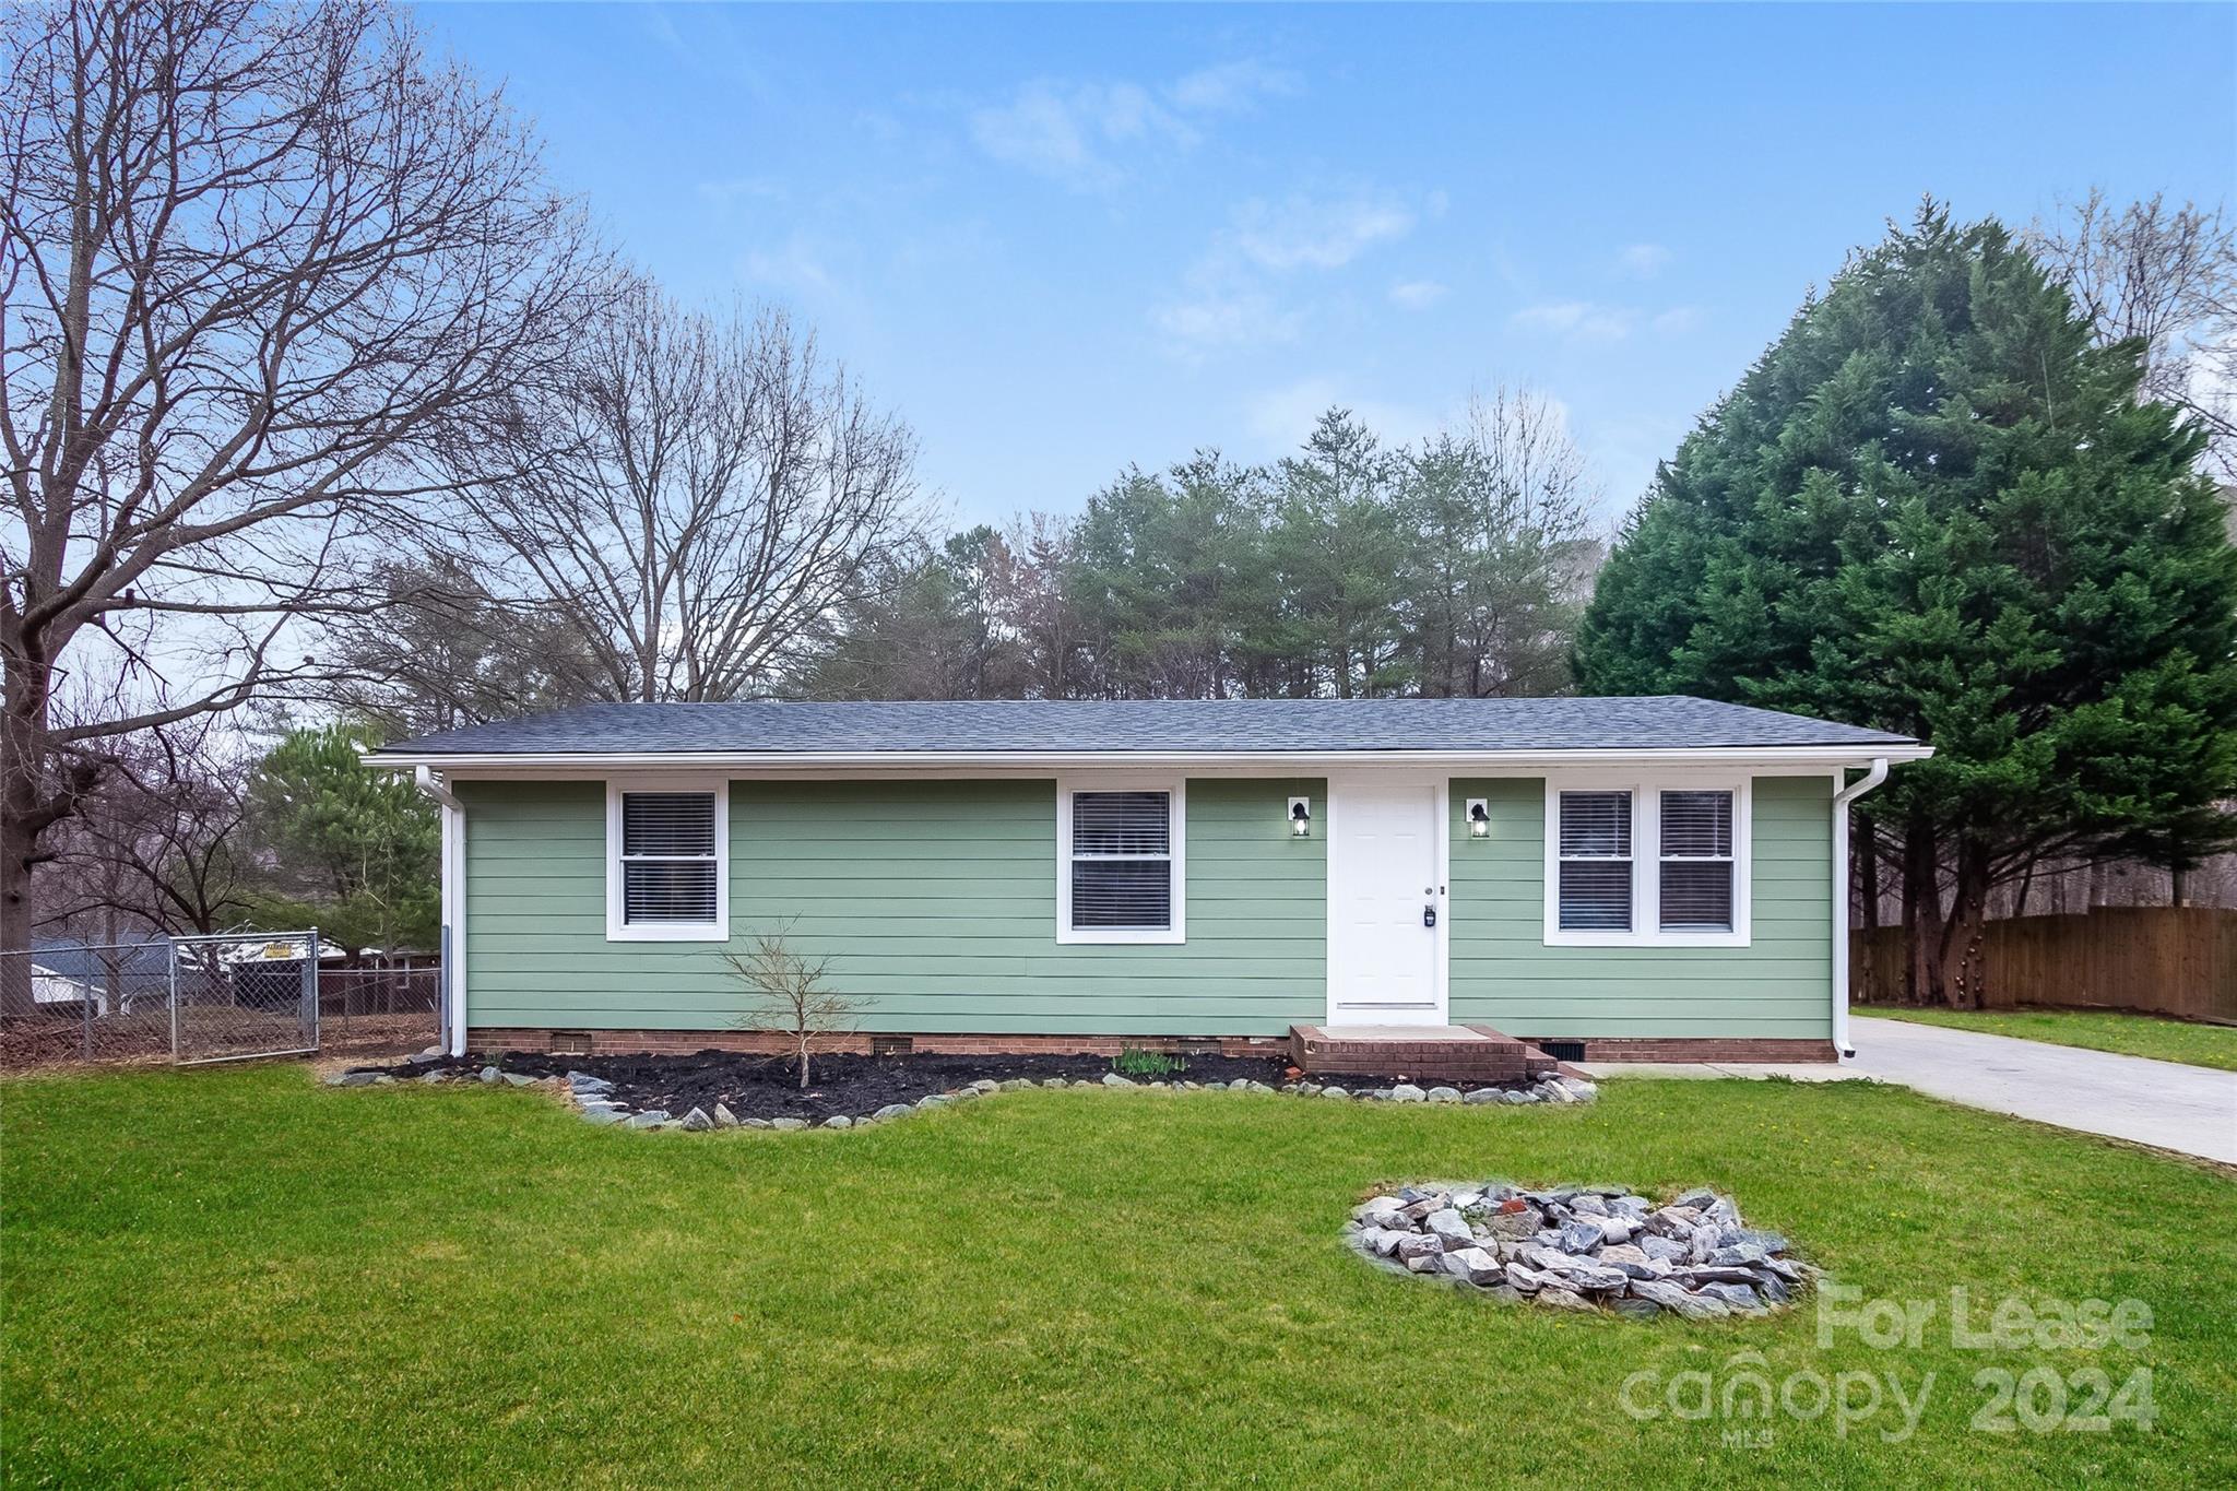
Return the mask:
<path id="1" fill-rule="evenodd" d="M 915 438 L 776 311 L 685 311 L 646 284 L 566 378 L 452 456 L 459 559 L 568 626 L 608 700 L 770 691 L 888 545 L 917 534 Z"/>

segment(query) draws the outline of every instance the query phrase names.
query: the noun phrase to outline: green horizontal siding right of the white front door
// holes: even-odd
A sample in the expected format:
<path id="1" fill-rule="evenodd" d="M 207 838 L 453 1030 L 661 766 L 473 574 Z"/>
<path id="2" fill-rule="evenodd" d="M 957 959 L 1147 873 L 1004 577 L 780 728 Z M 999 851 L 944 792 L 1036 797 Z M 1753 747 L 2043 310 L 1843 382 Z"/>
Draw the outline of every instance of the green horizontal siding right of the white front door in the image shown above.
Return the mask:
<path id="1" fill-rule="evenodd" d="M 1470 838 L 1485 798 L 1490 838 Z M 1546 782 L 1452 782 L 1452 1017 L 1510 1035 L 1832 1035 L 1832 780 L 1754 785 L 1747 948 L 1548 948 Z"/>

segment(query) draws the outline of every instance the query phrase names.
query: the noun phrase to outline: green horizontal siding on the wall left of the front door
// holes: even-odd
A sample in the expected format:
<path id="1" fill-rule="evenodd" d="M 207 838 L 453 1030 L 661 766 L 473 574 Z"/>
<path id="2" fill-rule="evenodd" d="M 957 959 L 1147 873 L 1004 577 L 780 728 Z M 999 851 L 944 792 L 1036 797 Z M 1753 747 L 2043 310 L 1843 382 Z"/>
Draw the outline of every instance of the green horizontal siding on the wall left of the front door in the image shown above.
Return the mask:
<path id="1" fill-rule="evenodd" d="M 1320 780 L 1188 782 L 1188 941 L 1058 946 L 1056 782 L 731 782 L 729 932 L 792 923 L 866 1031 L 1282 1035 L 1327 1004 Z M 463 782 L 468 1019 L 729 1026 L 709 943 L 606 941 L 602 782 Z"/>

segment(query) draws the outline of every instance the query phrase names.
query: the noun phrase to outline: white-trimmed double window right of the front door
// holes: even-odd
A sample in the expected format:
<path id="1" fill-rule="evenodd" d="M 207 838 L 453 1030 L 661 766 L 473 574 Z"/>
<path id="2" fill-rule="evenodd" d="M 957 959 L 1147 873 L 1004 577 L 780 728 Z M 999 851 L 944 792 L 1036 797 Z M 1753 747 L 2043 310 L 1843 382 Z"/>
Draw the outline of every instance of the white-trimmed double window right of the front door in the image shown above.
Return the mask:
<path id="1" fill-rule="evenodd" d="M 1546 778 L 1546 946 L 1745 948 L 1749 782 Z"/>

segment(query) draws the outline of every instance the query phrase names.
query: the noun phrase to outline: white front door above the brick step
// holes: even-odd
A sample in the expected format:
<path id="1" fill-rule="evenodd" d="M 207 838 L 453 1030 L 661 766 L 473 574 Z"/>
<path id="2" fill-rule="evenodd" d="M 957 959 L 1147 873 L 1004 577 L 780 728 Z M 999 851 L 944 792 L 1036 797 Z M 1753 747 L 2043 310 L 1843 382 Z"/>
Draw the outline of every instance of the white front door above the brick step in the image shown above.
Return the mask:
<path id="1" fill-rule="evenodd" d="M 1445 782 L 1329 785 L 1329 1024 L 1445 1024 Z"/>

